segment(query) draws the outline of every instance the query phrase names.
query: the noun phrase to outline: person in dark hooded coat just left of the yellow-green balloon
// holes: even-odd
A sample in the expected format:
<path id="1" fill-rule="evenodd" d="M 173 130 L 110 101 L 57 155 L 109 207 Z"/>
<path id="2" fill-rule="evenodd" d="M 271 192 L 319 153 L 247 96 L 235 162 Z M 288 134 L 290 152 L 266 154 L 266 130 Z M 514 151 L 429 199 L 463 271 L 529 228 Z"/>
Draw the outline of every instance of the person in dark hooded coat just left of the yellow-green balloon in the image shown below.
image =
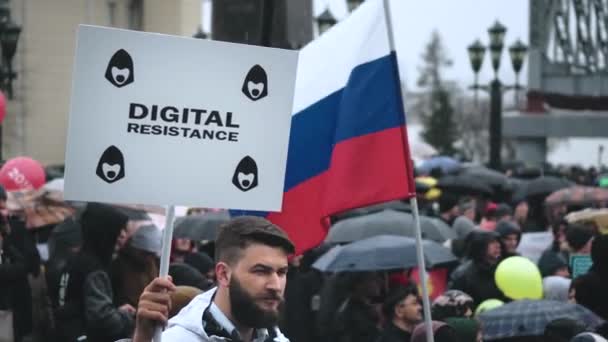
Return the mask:
<path id="1" fill-rule="evenodd" d="M 469 259 L 452 274 L 451 289 L 470 295 L 475 306 L 486 299 L 504 299 L 496 286 L 494 272 L 501 258 L 499 235 L 495 232 L 475 231 L 469 245 Z"/>

